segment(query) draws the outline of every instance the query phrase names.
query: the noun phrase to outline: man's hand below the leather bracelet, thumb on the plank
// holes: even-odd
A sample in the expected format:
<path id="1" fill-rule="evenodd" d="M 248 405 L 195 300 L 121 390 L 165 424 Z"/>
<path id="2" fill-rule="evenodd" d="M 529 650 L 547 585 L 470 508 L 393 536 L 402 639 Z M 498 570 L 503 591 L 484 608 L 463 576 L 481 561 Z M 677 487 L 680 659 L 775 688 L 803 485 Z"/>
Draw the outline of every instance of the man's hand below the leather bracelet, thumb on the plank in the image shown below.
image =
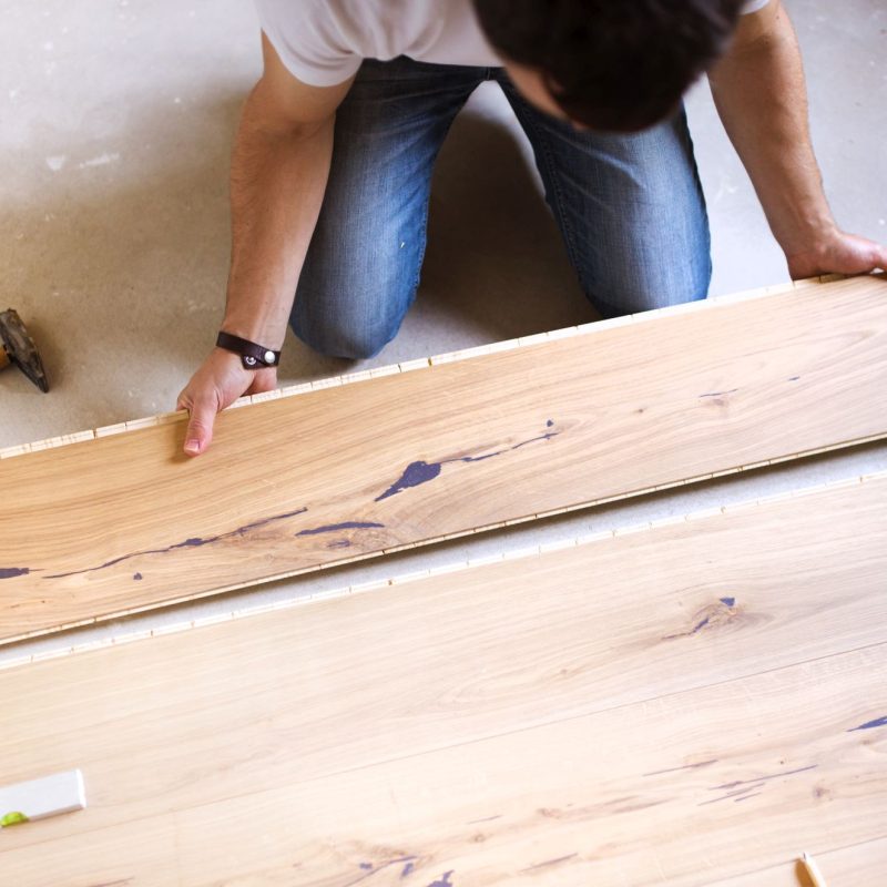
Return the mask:
<path id="1" fill-rule="evenodd" d="M 179 395 L 176 409 L 191 416 L 185 432 L 185 455 L 200 456 L 213 439 L 215 416 L 243 395 L 273 391 L 277 368 L 244 369 L 238 355 L 214 348 Z"/>

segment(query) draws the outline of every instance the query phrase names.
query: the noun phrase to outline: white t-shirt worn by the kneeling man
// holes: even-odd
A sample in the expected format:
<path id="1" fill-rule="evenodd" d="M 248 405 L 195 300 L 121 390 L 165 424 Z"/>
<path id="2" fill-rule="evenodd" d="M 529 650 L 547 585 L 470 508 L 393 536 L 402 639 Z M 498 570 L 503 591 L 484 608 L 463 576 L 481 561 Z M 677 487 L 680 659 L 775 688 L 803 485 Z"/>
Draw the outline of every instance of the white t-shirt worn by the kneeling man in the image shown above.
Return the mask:
<path id="1" fill-rule="evenodd" d="M 747 0 L 743 13 L 769 0 Z M 497 67 L 472 0 L 255 0 L 262 30 L 292 74 L 334 86 L 364 59 Z"/>

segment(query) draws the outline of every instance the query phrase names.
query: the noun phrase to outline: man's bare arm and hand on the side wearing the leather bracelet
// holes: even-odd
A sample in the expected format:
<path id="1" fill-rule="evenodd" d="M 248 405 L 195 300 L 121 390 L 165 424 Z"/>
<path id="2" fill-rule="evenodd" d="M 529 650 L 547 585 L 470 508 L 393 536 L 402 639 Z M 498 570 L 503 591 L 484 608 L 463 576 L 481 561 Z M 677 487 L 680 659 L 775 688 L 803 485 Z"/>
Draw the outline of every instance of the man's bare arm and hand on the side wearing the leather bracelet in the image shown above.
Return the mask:
<path id="1" fill-rule="evenodd" d="M 324 200 L 336 109 L 354 78 L 335 86 L 297 80 L 262 35 L 265 69 L 244 105 L 231 171 L 232 261 L 223 329 L 283 343 L 298 276 Z M 185 452 L 200 456 L 220 410 L 272 391 L 277 369 L 244 369 L 216 348 L 179 395 L 191 414 Z"/>

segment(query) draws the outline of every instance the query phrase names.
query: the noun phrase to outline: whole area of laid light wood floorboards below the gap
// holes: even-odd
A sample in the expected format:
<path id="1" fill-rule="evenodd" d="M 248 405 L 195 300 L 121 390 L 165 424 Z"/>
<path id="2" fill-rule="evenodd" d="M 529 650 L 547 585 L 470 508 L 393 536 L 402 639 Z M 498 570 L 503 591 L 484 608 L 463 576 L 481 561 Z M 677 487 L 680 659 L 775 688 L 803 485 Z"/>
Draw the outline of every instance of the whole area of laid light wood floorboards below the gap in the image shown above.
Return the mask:
<path id="1" fill-rule="evenodd" d="M 0 672 L 2 781 L 90 798 L 0 870 L 690 887 L 881 839 L 886 533 L 879 476 Z"/>

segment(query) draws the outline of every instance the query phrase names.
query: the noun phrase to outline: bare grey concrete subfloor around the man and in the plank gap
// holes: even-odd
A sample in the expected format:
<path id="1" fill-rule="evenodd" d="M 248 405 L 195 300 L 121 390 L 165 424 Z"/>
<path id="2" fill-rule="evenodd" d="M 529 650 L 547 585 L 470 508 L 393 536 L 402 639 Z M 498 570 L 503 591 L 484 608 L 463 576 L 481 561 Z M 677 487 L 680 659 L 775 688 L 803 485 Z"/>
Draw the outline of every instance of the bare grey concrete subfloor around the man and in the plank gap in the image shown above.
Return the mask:
<path id="1" fill-rule="evenodd" d="M 785 2 L 805 53 L 814 142 L 835 215 L 849 231 L 887 239 L 887 8 L 881 0 Z M 228 152 L 259 72 L 248 2 L 7 6 L 0 303 L 16 307 L 39 340 L 52 391 L 0 374 L 0 448 L 174 408 L 217 329 Z M 705 84 L 689 109 L 712 222 L 712 293 L 786 281 Z M 346 364 L 288 334 L 279 379 L 289 385 L 593 318 L 528 145 L 498 88 L 487 84 L 441 154 L 422 284 L 400 335 L 375 359 Z M 868 446 L 20 644 L 0 662 L 884 469 L 887 446 Z"/>

